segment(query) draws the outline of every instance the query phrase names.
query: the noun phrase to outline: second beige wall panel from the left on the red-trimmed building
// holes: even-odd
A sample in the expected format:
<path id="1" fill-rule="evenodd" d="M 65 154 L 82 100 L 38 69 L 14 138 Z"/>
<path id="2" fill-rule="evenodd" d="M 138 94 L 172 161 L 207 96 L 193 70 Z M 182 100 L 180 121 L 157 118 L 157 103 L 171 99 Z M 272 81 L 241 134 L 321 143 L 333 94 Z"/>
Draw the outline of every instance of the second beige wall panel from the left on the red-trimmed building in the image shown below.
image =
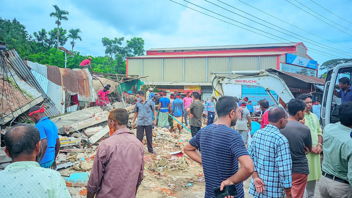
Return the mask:
<path id="1" fill-rule="evenodd" d="M 163 63 L 162 58 L 143 59 L 143 76 L 148 76 L 147 77 L 148 82 L 161 82 L 163 80 L 162 63 Z"/>

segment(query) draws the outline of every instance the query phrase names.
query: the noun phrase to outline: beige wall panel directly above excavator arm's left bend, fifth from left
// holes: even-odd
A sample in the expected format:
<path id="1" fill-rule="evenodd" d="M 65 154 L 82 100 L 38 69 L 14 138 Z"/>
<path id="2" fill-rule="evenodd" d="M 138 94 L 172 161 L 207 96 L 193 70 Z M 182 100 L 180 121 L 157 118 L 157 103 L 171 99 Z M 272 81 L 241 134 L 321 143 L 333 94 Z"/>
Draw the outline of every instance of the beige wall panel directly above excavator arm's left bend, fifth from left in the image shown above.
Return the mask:
<path id="1" fill-rule="evenodd" d="M 232 59 L 233 57 L 231 57 Z M 214 57 L 208 58 L 208 82 L 210 79 L 210 72 L 229 72 L 230 71 L 230 57 Z M 228 75 L 228 74 L 218 74 Z"/>

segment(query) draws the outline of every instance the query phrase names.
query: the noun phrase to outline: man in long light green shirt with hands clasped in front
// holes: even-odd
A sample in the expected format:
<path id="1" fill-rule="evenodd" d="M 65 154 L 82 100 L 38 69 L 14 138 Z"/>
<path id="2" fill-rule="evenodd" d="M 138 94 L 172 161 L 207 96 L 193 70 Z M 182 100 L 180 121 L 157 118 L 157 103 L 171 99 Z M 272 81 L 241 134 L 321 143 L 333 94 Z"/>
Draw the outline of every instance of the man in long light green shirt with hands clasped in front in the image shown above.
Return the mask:
<path id="1" fill-rule="evenodd" d="M 308 181 L 306 185 L 307 198 L 314 198 L 315 182 L 321 177 L 321 166 L 320 166 L 320 153 L 322 148 L 323 134 L 319 124 L 318 117 L 312 113 L 312 95 L 301 94 L 298 99 L 301 99 L 307 105 L 307 111 L 304 115 L 304 119 L 300 122 L 310 129 L 312 135 L 312 152 L 309 152 L 306 156 L 308 159 Z"/>

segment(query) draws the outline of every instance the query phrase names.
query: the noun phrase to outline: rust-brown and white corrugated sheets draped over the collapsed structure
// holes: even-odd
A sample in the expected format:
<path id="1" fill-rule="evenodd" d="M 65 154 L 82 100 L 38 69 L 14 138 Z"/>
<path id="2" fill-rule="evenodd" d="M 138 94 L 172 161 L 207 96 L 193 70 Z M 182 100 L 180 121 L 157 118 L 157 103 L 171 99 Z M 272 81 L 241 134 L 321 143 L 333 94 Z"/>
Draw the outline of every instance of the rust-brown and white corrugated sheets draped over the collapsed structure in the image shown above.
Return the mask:
<path id="1" fill-rule="evenodd" d="M 57 86 L 60 86 L 62 90 L 65 90 L 65 92 L 71 95 L 77 93 L 78 100 L 87 102 L 95 101 L 96 97 L 92 82 L 92 76 L 90 75 L 88 69 L 73 70 L 69 68 L 59 68 L 57 66 L 33 63 L 31 61 L 25 62 L 32 70 L 36 71 L 42 76 L 46 75 L 49 81 L 55 83 Z M 62 95 L 64 95 L 65 92 L 61 91 L 61 93 L 59 93 L 59 97 L 57 100 L 55 100 L 61 101 Z M 55 103 L 55 105 L 57 106 L 58 104 Z M 64 108 L 62 109 L 64 111 Z M 58 110 L 62 111 L 61 109 Z"/>

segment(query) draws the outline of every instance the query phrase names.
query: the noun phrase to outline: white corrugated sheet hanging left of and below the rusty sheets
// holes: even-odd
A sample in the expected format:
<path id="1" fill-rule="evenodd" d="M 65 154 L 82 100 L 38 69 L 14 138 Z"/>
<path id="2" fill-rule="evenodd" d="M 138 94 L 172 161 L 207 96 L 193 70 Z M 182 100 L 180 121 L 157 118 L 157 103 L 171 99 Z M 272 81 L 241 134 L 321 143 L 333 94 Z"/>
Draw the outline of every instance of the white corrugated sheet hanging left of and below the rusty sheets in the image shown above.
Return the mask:
<path id="1" fill-rule="evenodd" d="M 59 110 L 60 113 L 65 113 L 65 92 L 62 86 L 48 81 L 47 95 L 55 103 L 56 109 Z"/>

